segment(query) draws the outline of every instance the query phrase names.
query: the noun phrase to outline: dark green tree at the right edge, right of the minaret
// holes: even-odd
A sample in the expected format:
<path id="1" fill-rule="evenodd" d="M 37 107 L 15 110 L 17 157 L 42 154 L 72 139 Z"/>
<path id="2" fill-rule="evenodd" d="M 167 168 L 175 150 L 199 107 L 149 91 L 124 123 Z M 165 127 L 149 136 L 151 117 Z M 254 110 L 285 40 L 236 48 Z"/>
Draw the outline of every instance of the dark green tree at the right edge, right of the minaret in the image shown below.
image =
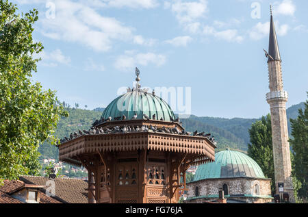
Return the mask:
<path id="1" fill-rule="evenodd" d="M 308 92 L 307 92 L 308 94 Z M 290 119 L 292 137 L 289 142 L 292 146 L 292 176 L 296 178 L 295 190 L 298 199 L 308 199 L 308 101 L 305 110 L 298 110 L 298 118 Z"/>

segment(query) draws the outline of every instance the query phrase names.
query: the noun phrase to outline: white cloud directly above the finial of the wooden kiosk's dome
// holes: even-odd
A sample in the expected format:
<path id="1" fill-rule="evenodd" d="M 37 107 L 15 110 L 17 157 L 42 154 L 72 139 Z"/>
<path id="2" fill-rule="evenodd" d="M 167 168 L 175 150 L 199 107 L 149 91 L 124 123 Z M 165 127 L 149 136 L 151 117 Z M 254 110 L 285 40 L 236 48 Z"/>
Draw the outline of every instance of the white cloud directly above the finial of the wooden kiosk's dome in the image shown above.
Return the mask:
<path id="1" fill-rule="evenodd" d="M 125 51 L 124 55 L 118 56 L 114 66 L 120 71 L 131 71 L 138 65 L 147 66 L 153 64 L 155 66 L 162 66 L 165 62 L 166 56 L 162 54 Z"/>

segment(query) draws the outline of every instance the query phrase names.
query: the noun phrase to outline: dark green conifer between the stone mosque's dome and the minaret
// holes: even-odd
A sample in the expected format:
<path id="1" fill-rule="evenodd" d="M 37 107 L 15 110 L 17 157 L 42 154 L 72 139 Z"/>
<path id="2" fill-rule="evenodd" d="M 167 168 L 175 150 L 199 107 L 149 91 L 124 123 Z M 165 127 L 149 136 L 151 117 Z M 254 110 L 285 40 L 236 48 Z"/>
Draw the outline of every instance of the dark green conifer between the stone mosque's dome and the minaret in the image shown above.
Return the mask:
<path id="1" fill-rule="evenodd" d="M 272 125 L 270 114 L 257 120 L 248 130 L 251 143 L 248 144 L 248 156 L 261 167 L 264 175 L 270 179 L 272 194 L 275 192 L 274 158 L 272 153 Z"/>

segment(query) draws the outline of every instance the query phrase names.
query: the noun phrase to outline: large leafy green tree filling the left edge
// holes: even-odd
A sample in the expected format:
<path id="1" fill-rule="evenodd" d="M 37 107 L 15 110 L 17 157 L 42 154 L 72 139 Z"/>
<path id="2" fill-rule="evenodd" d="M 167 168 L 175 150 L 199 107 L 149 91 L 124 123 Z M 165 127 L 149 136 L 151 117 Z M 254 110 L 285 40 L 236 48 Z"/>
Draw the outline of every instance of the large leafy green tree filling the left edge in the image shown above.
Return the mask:
<path id="1" fill-rule="evenodd" d="M 16 5 L 0 0 L 0 182 L 39 173 L 38 146 L 57 142 L 53 132 L 60 116 L 55 92 L 31 84 L 42 51 L 32 39 L 38 11 L 17 12 Z"/>

